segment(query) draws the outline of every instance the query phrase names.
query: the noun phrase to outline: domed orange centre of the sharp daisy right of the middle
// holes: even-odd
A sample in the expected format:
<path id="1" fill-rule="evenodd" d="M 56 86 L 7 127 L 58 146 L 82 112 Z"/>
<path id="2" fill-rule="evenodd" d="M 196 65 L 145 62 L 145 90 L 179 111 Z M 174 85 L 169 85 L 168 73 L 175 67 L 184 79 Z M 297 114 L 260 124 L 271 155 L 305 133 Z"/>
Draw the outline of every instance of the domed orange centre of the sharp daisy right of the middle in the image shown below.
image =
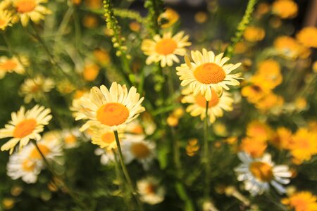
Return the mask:
<path id="1" fill-rule="evenodd" d="M 203 84 L 218 84 L 225 79 L 225 71 L 215 63 L 205 63 L 194 70 L 194 77 Z"/>

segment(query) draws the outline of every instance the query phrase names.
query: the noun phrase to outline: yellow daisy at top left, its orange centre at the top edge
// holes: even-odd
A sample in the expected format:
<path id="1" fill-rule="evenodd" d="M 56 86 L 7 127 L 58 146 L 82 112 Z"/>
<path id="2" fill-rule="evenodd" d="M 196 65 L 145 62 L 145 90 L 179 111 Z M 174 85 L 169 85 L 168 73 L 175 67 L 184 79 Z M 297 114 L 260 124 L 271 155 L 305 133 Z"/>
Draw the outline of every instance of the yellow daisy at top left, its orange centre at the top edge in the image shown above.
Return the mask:
<path id="1" fill-rule="evenodd" d="M 51 11 L 42 6 L 48 0 L 12 0 L 13 7 L 20 17 L 21 24 L 25 27 L 31 19 L 34 23 L 44 20 L 44 15 L 49 15 Z"/>

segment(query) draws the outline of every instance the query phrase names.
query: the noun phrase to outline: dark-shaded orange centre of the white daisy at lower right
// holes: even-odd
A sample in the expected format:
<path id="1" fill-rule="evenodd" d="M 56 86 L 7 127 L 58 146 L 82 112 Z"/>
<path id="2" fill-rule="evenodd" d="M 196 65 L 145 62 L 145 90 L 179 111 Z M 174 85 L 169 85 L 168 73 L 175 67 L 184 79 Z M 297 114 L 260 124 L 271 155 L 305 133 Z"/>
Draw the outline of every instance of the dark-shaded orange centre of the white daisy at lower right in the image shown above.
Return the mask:
<path id="1" fill-rule="evenodd" d="M 252 162 L 249 170 L 260 181 L 271 181 L 273 179 L 272 166 L 265 162 Z"/>

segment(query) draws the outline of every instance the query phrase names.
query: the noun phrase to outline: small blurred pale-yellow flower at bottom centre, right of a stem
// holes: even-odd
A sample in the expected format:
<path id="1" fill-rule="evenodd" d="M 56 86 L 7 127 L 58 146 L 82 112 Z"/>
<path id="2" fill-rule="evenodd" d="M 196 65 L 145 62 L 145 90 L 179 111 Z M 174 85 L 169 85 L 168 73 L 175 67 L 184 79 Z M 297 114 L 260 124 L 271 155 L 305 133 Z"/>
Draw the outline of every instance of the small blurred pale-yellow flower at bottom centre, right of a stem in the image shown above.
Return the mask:
<path id="1" fill-rule="evenodd" d="M 159 180 L 154 177 L 137 181 L 137 192 L 140 200 L 150 205 L 161 203 L 165 197 L 165 188 L 160 186 Z"/>

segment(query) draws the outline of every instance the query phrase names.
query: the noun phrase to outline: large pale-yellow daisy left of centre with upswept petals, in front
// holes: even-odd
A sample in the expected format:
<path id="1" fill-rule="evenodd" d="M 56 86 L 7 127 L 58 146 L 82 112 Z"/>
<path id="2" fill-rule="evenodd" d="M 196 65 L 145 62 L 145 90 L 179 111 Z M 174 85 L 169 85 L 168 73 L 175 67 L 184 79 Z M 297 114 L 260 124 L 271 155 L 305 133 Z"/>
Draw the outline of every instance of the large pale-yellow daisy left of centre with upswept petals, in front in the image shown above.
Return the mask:
<path id="1" fill-rule="evenodd" d="M 89 97 L 81 98 L 80 106 L 83 108 L 82 116 L 76 118 L 80 120 L 87 117 L 87 122 L 82 125 L 80 131 L 85 131 L 89 127 L 105 127 L 111 130 L 125 128 L 125 124 L 135 120 L 145 108 L 141 106 L 144 98 L 139 98 L 137 89 L 131 87 L 128 91 L 125 85 L 121 86 L 116 82 L 111 84 L 110 89 L 104 85 L 93 87 Z"/>

